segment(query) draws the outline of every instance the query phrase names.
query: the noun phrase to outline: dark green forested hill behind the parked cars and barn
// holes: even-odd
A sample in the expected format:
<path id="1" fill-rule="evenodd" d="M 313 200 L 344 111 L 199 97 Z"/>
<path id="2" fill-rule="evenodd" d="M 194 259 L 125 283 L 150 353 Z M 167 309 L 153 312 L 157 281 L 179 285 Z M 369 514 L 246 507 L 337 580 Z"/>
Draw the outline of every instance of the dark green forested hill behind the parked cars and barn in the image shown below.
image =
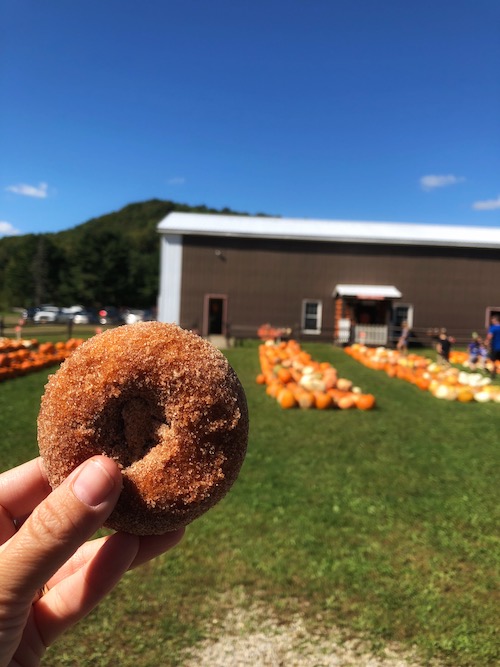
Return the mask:
<path id="1" fill-rule="evenodd" d="M 152 199 L 62 232 L 2 238 L 0 309 L 41 303 L 155 305 L 160 251 L 156 227 L 172 211 L 235 213 Z"/>

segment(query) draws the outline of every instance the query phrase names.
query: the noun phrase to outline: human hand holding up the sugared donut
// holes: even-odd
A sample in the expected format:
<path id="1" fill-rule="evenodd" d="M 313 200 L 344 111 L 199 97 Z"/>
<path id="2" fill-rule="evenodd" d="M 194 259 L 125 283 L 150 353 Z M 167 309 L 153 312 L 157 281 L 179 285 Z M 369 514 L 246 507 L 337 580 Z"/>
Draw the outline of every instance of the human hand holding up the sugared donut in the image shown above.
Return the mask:
<path id="1" fill-rule="evenodd" d="M 105 456 L 83 463 L 54 491 L 40 458 L 0 475 L 0 667 L 39 665 L 127 570 L 180 541 L 182 529 L 87 541 L 121 488 L 121 472 Z"/>

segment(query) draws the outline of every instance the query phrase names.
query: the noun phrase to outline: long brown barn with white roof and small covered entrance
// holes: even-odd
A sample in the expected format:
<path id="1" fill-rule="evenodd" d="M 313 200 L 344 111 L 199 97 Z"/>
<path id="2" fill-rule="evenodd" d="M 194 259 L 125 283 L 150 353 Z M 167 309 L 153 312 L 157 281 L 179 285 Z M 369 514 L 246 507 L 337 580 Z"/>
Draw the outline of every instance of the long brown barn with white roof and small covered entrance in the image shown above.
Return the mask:
<path id="1" fill-rule="evenodd" d="M 500 313 L 500 229 L 170 213 L 158 318 L 206 337 L 414 344 L 446 327 L 458 341 Z"/>

